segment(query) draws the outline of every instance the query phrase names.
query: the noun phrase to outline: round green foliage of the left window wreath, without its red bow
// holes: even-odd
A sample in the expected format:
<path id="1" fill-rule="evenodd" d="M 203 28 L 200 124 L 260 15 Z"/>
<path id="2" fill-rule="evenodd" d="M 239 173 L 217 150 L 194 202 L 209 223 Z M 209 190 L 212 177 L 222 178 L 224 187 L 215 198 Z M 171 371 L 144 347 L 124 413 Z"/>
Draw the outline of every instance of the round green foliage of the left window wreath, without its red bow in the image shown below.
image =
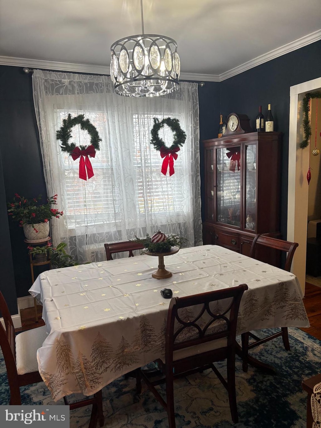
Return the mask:
<path id="1" fill-rule="evenodd" d="M 83 131 L 88 132 L 90 135 L 90 144 L 94 146 L 95 150 L 99 150 L 99 141 L 101 141 L 101 138 L 99 138 L 98 131 L 95 126 L 92 125 L 90 120 L 85 119 L 83 114 L 79 114 L 76 117 L 71 117 L 71 115 L 68 114 L 67 119 L 63 119 L 62 121 L 62 127 L 56 132 L 57 140 L 62 142 L 60 145 L 61 151 L 71 155 L 73 150 L 76 148 L 75 143 L 68 143 L 71 138 L 71 128 L 75 125 L 80 125 L 80 128 Z M 86 146 L 79 146 L 79 148 L 80 150 L 85 150 Z"/>

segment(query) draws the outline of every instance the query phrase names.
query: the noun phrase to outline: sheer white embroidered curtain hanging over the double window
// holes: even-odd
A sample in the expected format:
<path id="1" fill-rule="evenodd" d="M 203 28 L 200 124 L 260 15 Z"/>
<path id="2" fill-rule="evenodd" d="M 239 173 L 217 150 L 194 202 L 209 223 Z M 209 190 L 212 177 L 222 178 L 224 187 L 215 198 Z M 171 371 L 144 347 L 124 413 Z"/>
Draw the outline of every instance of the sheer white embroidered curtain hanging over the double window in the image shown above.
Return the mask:
<path id="1" fill-rule="evenodd" d="M 166 97 L 127 98 L 113 93 L 110 77 L 35 70 L 33 96 L 48 195 L 58 194 L 64 216 L 51 220 L 53 244 L 67 243 L 80 262 L 104 259 L 104 243 L 180 234 L 188 246 L 202 244 L 199 177 L 199 110 L 196 83 L 181 83 Z M 63 153 L 56 131 L 68 113 L 84 114 L 102 139 L 90 158 L 94 177 L 78 176 L 79 159 Z M 162 159 L 150 145 L 153 117 L 178 118 L 187 134 L 174 162 L 161 174 Z M 163 137 L 171 145 L 172 132 Z M 79 126 L 69 143 L 89 145 Z"/>

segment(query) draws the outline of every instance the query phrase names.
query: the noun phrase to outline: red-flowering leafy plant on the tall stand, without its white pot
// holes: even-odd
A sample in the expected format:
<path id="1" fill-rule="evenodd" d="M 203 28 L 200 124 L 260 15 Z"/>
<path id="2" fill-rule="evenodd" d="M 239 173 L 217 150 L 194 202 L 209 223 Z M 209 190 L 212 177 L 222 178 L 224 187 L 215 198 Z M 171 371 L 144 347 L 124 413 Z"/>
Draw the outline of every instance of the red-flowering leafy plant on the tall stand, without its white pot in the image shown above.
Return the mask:
<path id="1" fill-rule="evenodd" d="M 46 204 L 41 203 L 41 196 L 26 199 L 16 193 L 13 202 L 7 202 L 8 214 L 12 220 L 18 221 L 20 227 L 25 224 L 31 224 L 34 227 L 37 223 L 47 223 L 51 217 L 59 218 L 63 215 L 63 211 L 51 208 L 52 205 L 57 205 L 58 195 L 48 198 Z"/>

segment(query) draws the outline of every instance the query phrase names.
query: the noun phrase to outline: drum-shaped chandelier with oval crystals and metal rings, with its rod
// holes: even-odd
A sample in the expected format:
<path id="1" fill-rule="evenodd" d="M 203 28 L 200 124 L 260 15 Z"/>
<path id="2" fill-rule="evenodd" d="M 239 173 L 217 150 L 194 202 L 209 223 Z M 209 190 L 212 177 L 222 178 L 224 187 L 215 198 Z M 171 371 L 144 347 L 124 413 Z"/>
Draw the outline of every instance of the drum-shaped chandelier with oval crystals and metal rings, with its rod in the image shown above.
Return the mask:
<path id="1" fill-rule="evenodd" d="M 180 60 L 175 40 L 144 34 L 143 0 L 140 0 L 142 34 L 111 45 L 110 77 L 114 92 L 127 97 L 154 97 L 179 87 Z"/>

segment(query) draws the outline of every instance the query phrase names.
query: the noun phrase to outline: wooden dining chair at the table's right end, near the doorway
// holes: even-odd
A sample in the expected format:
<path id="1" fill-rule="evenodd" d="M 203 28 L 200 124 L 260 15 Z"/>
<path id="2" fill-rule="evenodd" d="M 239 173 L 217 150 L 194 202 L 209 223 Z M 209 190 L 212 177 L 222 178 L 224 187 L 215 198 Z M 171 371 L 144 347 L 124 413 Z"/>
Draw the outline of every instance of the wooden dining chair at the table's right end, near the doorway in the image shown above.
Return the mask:
<path id="1" fill-rule="evenodd" d="M 298 246 L 299 244 L 297 242 L 283 241 L 282 239 L 271 238 L 269 236 L 259 234 L 259 235 L 256 235 L 255 238 L 253 239 L 251 250 L 250 250 L 250 257 L 252 259 L 259 260 L 259 258 L 257 257 L 257 251 L 259 247 L 268 247 L 274 250 L 283 251 L 287 253 L 285 265 L 283 269 L 290 272 L 294 251 L 297 249 Z M 247 371 L 247 366 L 248 366 L 248 363 L 247 363 L 248 351 L 252 348 L 255 348 L 256 346 L 262 345 L 262 343 L 268 342 L 269 340 L 275 339 L 276 337 L 279 337 L 279 336 L 282 336 L 285 350 L 289 351 L 290 344 L 288 341 L 288 327 L 281 327 L 281 330 L 279 330 L 274 334 L 266 336 L 263 339 L 260 339 L 258 336 L 256 336 L 252 332 L 243 333 L 241 335 L 244 372 Z M 249 343 L 250 337 L 254 339 L 254 342 Z"/>

